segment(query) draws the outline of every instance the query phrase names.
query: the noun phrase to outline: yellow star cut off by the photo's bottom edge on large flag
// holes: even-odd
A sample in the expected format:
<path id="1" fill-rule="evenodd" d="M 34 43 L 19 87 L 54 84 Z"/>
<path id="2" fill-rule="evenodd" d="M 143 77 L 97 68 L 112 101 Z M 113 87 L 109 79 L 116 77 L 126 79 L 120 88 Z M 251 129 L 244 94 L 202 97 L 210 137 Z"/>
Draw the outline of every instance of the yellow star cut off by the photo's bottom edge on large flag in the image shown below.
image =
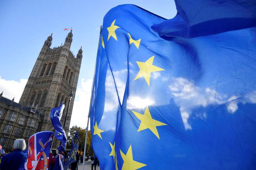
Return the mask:
<path id="1" fill-rule="evenodd" d="M 120 149 L 120 154 L 124 160 L 122 170 L 135 170 L 135 169 L 139 169 L 143 166 L 146 166 L 146 164 L 144 164 L 144 163 L 140 163 L 140 162 L 133 160 L 132 145 L 130 145 L 126 155 L 124 155 L 124 153 L 121 151 L 121 149 Z"/>

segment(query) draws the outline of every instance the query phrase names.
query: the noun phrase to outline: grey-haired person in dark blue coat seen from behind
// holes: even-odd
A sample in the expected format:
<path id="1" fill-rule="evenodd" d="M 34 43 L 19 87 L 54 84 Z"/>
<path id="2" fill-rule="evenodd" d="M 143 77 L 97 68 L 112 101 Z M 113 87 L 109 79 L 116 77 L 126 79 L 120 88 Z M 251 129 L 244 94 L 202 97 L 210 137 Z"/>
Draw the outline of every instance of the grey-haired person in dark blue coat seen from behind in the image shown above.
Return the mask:
<path id="1" fill-rule="evenodd" d="M 13 152 L 2 157 L 0 170 L 18 170 L 25 163 L 26 156 L 23 150 L 26 149 L 24 139 L 16 139 L 13 143 Z"/>

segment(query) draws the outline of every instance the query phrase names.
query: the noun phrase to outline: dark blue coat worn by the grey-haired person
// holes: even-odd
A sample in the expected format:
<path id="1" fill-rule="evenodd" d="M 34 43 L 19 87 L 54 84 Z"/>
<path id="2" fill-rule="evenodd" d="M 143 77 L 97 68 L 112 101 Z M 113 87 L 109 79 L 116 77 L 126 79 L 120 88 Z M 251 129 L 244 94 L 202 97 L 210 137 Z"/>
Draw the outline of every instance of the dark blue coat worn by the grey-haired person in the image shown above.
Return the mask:
<path id="1" fill-rule="evenodd" d="M 26 155 L 23 151 L 16 149 L 12 153 L 2 157 L 0 170 L 18 170 L 25 163 Z"/>

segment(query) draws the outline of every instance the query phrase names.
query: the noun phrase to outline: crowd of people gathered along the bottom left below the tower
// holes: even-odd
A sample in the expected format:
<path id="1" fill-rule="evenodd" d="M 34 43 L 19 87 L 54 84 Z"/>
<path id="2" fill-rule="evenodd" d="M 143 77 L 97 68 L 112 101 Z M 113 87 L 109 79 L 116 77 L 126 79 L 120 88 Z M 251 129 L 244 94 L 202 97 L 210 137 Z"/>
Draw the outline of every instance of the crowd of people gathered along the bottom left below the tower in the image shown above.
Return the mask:
<path id="1" fill-rule="evenodd" d="M 4 149 L 0 145 L 0 170 L 19 170 L 21 166 L 24 165 L 27 158 L 27 152 L 25 151 L 25 149 L 26 143 L 24 139 L 16 139 L 13 143 L 12 152 L 9 154 L 5 153 Z M 58 147 L 55 155 L 53 155 L 52 150 L 50 150 L 48 170 L 52 170 L 54 168 L 58 155 L 61 158 L 62 164 L 64 164 L 64 162 L 68 160 L 68 154 L 64 151 L 64 147 L 62 145 Z M 99 165 L 99 160 L 95 155 L 90 156 L 90 158 L 92 170 L 93 166 L 94 170 L 96 170 L 96 165 Z M 88 157 L 86 157 L 85 160 L 88 160 Z M 76 161 L 71 163 L 69 168 L 71 170 L 77 170 L 79 161 L 80 163 L 83 163 L 83 155 L 80 155 L 77 152 Z"/>

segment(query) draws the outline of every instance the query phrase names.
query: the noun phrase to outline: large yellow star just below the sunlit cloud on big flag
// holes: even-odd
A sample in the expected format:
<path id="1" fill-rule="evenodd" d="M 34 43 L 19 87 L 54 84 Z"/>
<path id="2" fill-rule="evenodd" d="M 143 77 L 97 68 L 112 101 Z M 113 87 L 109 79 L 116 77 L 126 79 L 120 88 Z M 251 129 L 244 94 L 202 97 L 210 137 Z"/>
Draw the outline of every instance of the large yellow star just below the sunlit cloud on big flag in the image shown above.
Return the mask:
<path id="1" fill-rule="evenodd" d="M 139 127 L 138 131 L 145 130 L 145 129 L 149 128 L 149 130 L 151 130 L 156 135 L 156 137 L 158 139 L 160 139 L 156 127 L 157 126 L 167 125 L 167 124 L 152 119 L 151 114 L 149 112 L 149 106 L 146 107 L 144 115 L 140 114 L 138 112 L 135 112 L 133 110 L 132 110 L 132 112 L 141 121 L 141 124 L 140 124 L 140 127 Z"/>

